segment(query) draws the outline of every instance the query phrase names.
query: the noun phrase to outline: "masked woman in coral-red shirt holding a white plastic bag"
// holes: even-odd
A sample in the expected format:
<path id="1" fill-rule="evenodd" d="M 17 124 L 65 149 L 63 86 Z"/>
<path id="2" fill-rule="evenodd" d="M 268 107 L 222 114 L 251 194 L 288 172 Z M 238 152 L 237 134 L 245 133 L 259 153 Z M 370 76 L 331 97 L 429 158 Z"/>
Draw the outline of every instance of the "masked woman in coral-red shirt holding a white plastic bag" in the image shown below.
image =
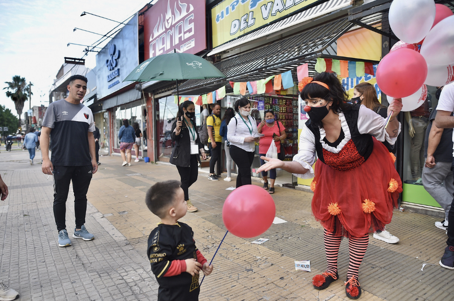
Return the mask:
<path id="1" fill-rule="evenodd" d="M 260 139 L 258 147 L 260 156 L 271 158 L 279 158 L 279 154 L 284 151 L 281 147 L 281 141 L 286 138 L 285 127 L 281 121 L 274 120 L 274 112 L 265 110 L 265 120 L 259 123 L 257 131 L 265 136 Z M 274 156 L 274 154 L 276 156 Z M 265 164 L 263 159 L 260 159 L 260 164 Z M 263 189 L 268 189 L 268 172 L 262 171 Z M 276 181 L 276 169 L 270 170 L 270 194 L 274 194 L 274 181 Z"/>

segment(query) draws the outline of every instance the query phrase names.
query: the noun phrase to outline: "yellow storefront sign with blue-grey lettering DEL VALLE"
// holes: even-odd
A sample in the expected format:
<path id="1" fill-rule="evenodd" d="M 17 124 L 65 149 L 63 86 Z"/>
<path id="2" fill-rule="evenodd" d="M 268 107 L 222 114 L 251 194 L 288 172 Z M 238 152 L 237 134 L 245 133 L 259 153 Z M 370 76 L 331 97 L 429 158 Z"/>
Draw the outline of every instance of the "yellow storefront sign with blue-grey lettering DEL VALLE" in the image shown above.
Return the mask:
<path id="1" fill-rule="evenodd" d="M 211 10 L 213 47 L 314 2 L 316 0 L 224 0 Z"/>

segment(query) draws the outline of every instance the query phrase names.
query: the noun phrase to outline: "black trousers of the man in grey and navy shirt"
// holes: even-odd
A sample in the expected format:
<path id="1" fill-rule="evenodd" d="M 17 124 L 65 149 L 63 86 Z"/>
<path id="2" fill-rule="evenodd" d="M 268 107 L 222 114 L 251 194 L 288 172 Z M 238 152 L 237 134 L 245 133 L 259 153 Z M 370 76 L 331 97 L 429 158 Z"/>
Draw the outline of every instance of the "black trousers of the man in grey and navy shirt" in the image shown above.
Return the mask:
<path id="1" fill-rule="evenodd" d="M 70 181 L 73 182 L 76 228 L 80 229 L 85 223 L 87 191 L 93 175 L 92 171 L 92 165 L 54 166 L 54 218 L 58 231 L 66 229 L 66 200 Z"/>

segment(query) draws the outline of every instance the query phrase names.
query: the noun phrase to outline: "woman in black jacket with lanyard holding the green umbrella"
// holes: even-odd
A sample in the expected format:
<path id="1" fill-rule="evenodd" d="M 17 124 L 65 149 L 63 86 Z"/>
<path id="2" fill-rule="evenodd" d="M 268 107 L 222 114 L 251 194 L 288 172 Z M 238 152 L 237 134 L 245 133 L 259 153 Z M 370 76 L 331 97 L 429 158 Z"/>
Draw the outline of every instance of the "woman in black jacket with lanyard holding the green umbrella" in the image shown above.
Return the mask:
<path id="1" fill-rule="evenodd" d="M 197 181 L 199 155 L 205 160 L 205 150 L 197 135 L 197 127 L 193 120 L 195 106 L 191 101 L 185 101 L 180 105 L 177 119 L 172 125 L 172 141 L 175 142 L 170 163 L 177 166 L 181 178 L 181 188 L 189 212 L 196 212 L 197 207 L 192 205 L 188 195 L 188 188 Z"/>

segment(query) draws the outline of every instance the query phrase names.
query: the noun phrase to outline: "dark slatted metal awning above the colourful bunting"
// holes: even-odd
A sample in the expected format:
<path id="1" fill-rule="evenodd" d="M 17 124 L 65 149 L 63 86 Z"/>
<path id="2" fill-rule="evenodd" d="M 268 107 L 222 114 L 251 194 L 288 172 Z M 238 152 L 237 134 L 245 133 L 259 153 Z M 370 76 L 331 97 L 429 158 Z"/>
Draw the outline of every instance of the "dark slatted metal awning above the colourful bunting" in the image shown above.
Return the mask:
<path id="1" fill-rule="evenodd" d="M 336 40 L 354 24 L 348 18 L 308 29 L 286 39 L 275 41 L 214 63 L 225 78 L 192 79 L 179 87 L 180 95 L 198 94 L 198 90 L 218 87 L 228 81 L 256 81 L 270 75 L 295 69 L 301 63 L 321 57 L 336 55 Z"/>

